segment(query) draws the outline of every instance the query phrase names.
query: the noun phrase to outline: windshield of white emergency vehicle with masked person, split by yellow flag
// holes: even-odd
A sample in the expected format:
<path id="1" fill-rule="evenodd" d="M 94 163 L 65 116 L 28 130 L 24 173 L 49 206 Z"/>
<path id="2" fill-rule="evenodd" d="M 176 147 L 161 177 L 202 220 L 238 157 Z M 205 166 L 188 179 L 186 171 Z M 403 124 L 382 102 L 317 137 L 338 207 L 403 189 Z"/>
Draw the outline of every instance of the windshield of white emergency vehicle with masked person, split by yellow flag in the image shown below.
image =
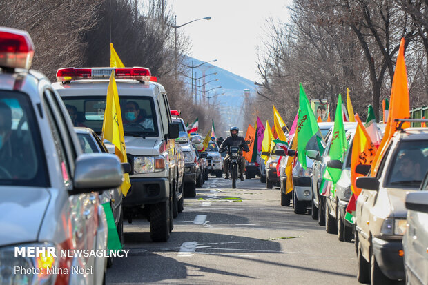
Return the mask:
<path id="1" fill-rule="evenodd" d="M 62 97 L 74 126 L 92 128 L 101 134 L 106 97 Z M 157 137 L 157 119 L 151 97 L 119 97 L 124 134 Z"/>

